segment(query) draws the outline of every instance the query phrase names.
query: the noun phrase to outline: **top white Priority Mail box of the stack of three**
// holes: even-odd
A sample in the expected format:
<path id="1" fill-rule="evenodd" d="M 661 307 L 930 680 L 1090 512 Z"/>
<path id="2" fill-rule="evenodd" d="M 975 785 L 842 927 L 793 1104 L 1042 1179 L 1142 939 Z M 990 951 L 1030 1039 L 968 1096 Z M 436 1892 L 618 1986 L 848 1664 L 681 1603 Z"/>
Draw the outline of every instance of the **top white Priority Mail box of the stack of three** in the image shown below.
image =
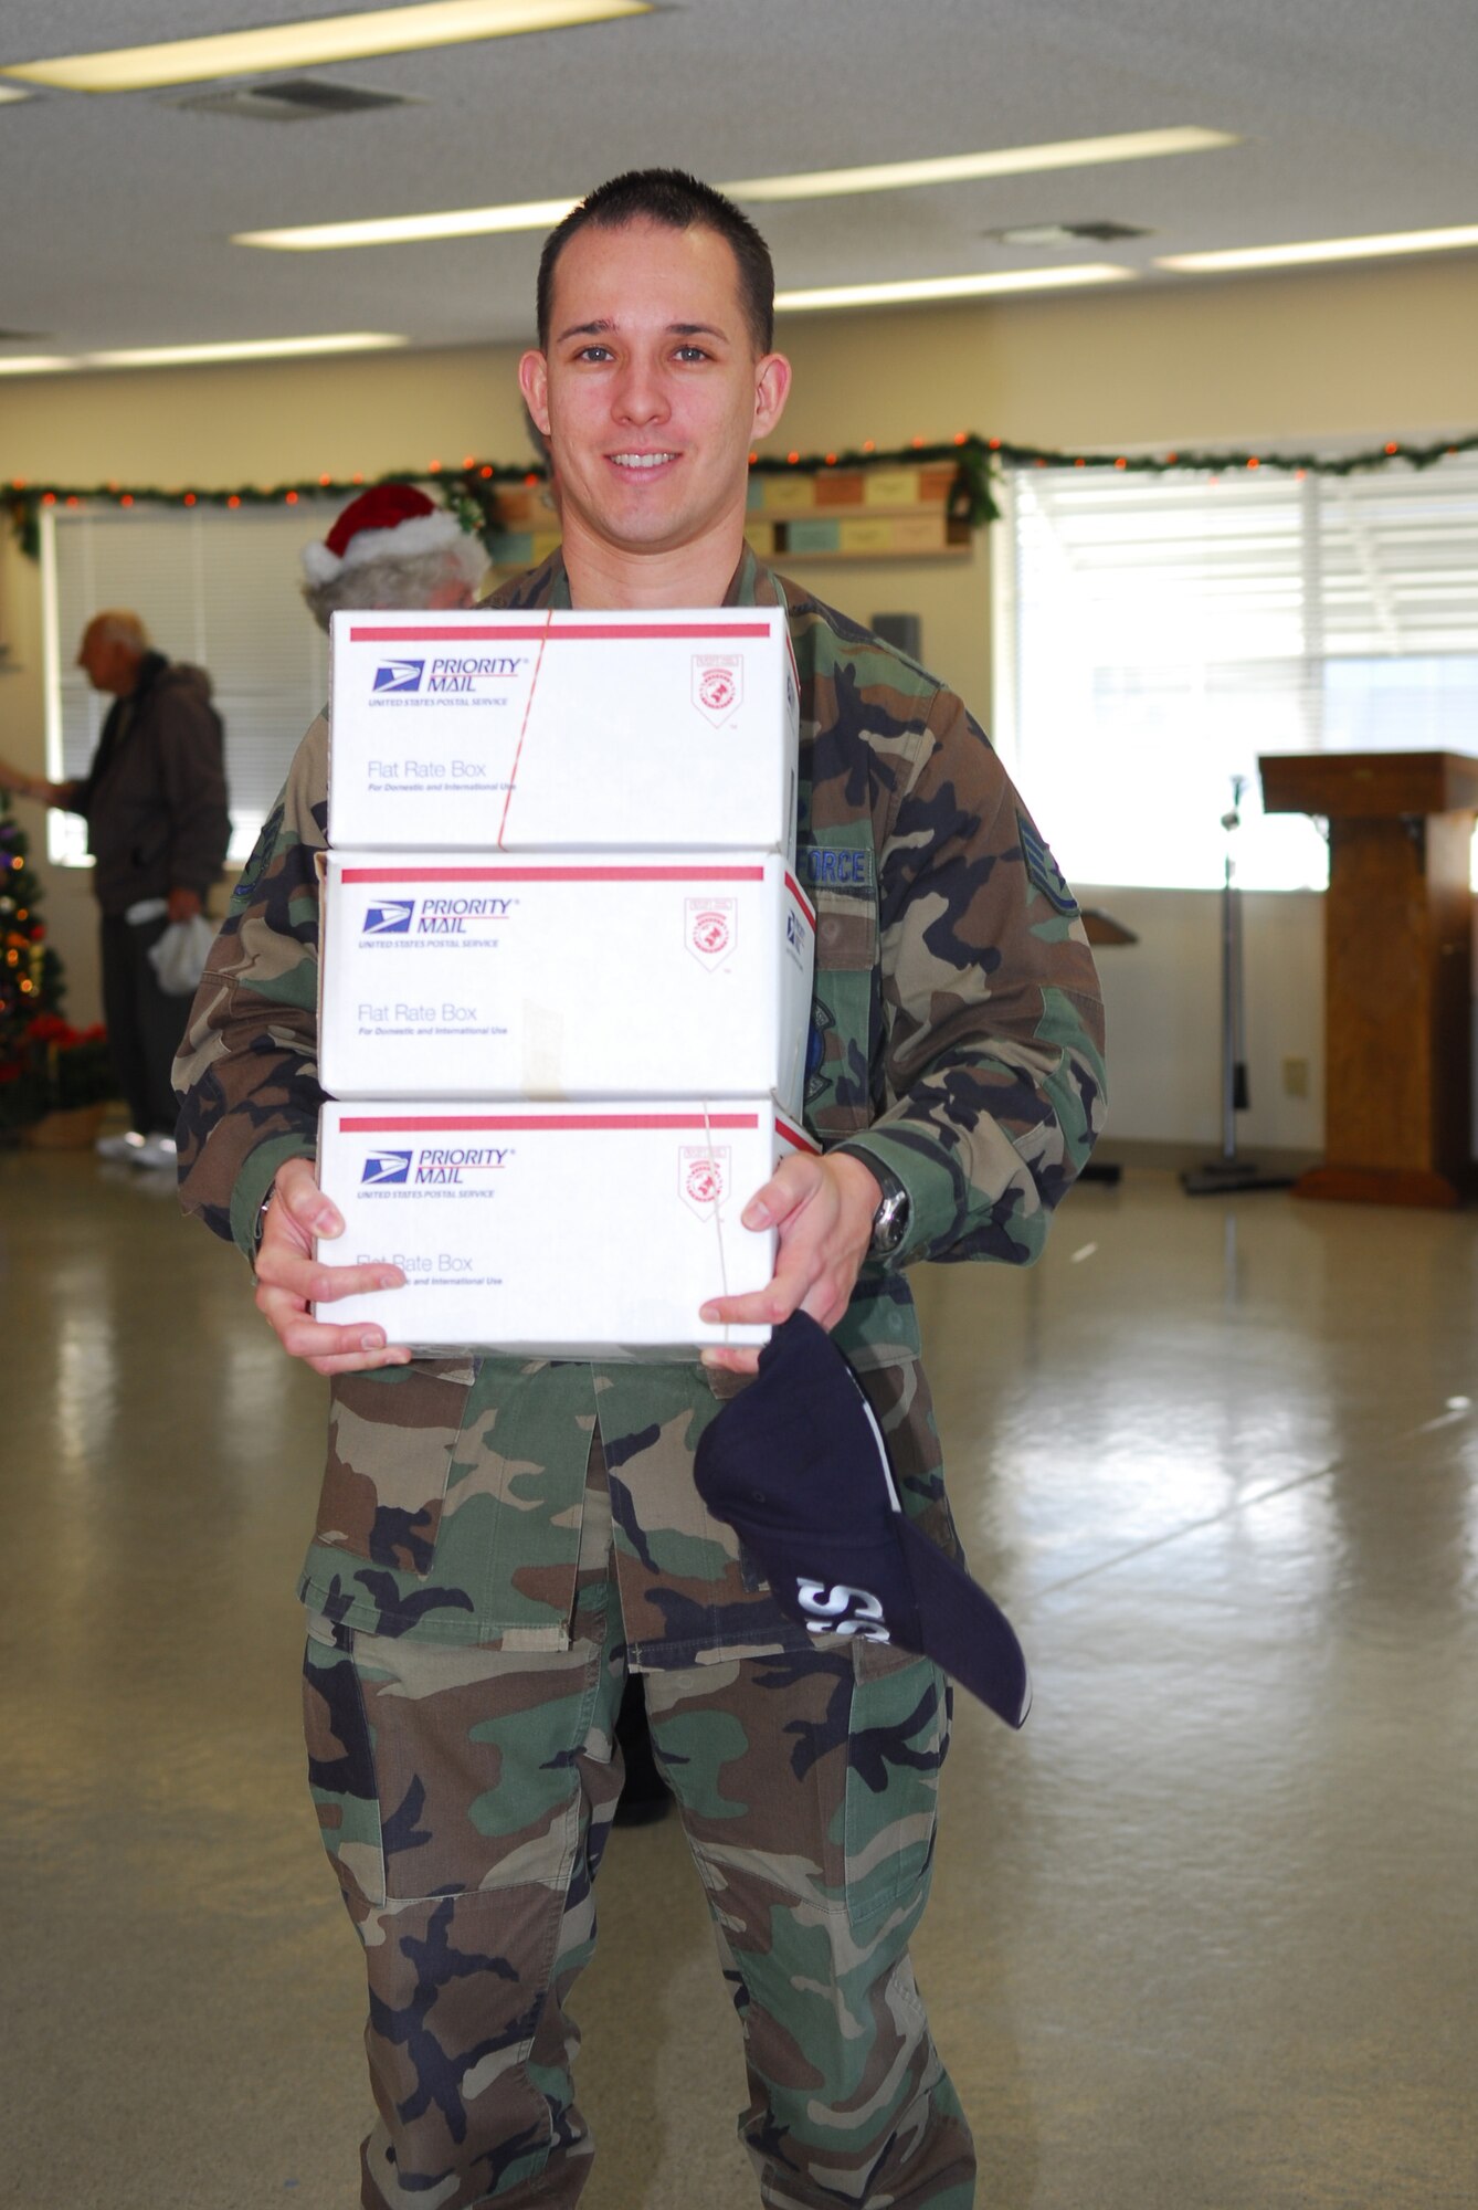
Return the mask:
<path id="1" fill-rule="evenodd" d="M 793 864 L 798 712 L 778 608 L 334 614 L 329 842 Z"/>

